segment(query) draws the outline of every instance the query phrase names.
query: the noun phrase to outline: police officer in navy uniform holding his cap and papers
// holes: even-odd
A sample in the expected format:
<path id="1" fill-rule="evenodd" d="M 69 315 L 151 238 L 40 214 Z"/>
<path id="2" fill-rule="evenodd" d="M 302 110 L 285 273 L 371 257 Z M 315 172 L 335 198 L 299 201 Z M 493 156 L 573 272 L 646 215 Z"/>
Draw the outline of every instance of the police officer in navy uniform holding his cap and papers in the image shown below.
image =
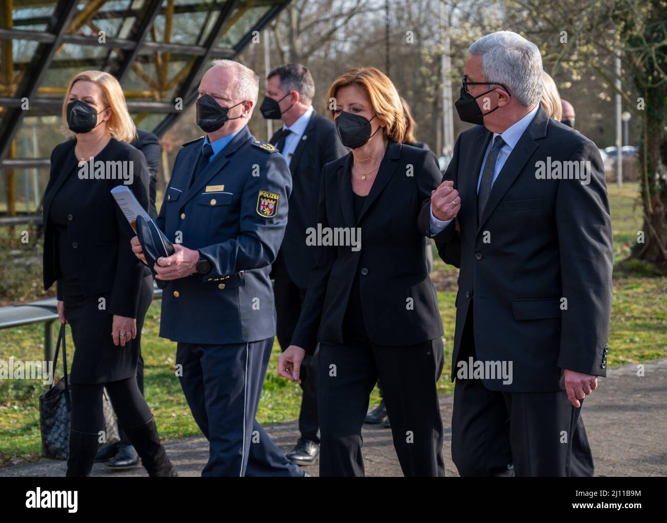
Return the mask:
<path id="1" fill-rule="evenodd" d="M 209 440 L 202 476 L 303 476 L 255 420 L 273 336 L 269 271 L 287 223 L 291 177 L 248 128 L 259 79 L 229 60 L 199 84 L 205 137 L 183 145 L 157 219 L 175 253 L 155 264 L 165 282 L 160 336 L 177 342 L 177 374 Z M 141 246 L 133 250 L 142 257 Z"/>

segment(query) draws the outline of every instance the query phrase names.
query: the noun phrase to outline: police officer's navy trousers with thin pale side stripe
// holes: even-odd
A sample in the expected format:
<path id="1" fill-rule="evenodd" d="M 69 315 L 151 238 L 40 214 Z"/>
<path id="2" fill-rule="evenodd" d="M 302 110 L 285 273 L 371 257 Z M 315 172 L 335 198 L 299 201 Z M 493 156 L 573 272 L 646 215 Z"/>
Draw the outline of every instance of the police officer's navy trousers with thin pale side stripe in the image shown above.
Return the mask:
<path id="1" fill-rule="evenodd" d="M 181 388 L 209 441 L 202 476 L 303 476 L 255 420 L 272 344 L 177 344 Z"/>

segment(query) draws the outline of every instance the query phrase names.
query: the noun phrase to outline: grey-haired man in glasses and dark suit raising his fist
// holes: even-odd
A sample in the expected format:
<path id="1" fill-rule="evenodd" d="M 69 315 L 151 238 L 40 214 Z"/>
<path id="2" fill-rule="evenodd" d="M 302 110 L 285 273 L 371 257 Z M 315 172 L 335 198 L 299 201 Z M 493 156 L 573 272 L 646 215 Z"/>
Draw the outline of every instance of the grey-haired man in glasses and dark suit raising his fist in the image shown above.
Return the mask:
<path id="1" fill-rule="evenodd" d="M 460 266 L 452 458 L 462 476 L 570 476 L 582 401 L 606 375 L 602 159 L 541 109 L 536 45 L 501 31 L 468 55 L 456 108 L 478 125 L 420 215 L 440 257 Z M 492 375 L 495 362 L 509 372 Z"/>

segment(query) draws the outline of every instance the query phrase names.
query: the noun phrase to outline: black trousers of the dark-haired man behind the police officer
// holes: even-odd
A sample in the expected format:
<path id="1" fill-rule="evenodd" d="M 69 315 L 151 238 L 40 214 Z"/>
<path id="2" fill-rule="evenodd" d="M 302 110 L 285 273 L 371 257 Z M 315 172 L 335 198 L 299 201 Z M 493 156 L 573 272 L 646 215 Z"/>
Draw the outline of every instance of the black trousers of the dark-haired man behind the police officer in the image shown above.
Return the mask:
<path id="1" fill-rule="evenodd" d="M 277 337 L 280 350 L 291 343 L 292 335 L 301 315 L 301 306 L 305 298 L 305 288 L 297 286 L 289 274 L 281 255 L 273 264 L 273 294 L 277 312 Z M 303 347 L 306 348 L 306 347 Z M 301 411 L 299 412 L 299 432 L 307 440 L 319 442 L 317 431 L 317 360 L 319 348 L 315 347 L 312 356 L 305 355 L 301 362 L 299 378 L 301 378 Z"/>

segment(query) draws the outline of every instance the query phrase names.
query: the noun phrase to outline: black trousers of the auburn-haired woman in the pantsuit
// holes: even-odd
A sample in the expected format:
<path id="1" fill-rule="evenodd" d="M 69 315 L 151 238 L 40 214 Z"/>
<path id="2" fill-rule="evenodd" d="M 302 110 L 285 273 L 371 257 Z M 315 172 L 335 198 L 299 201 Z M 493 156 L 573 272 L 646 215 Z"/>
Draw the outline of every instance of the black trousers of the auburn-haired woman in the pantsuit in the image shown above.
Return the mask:
<path id="1" fill-rule="evenodd" d="M 405 476 L 444 476 L 436 381 L 442 339 L 413 346 L 320 343 L 320 476 L 364 476 L 362 425 L 368 395 L 382 378 L 394 448 Z"/>

